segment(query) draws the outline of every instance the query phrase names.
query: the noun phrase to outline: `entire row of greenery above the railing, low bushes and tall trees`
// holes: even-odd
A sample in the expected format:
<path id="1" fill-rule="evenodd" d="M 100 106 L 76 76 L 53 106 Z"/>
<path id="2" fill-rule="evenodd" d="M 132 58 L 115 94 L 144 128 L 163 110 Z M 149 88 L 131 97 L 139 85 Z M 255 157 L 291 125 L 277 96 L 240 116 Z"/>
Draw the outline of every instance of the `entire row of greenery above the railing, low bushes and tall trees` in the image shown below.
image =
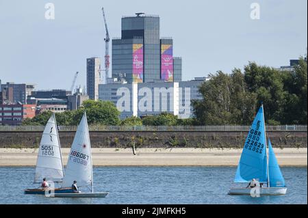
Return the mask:
<path id="1" fill-rule="evenodd" d="M 120 120 L 110 101 L 86 100 L 75 111 L 55 113 L 57 124 L 77 125 L 86 111 L 89 124 L 122 126 L 250 125 L 261 102 L 267 124 L 307 124 L 307 55 L 294 70 L 277 70 L 250 62 L 231 74 L 218 71 L 199 87 L 202 100 L 192 100 L 194 117 L 179 119 L 171 113 Z M 44 111 L 23 125 L 45 125 L 51 111 Z"/>

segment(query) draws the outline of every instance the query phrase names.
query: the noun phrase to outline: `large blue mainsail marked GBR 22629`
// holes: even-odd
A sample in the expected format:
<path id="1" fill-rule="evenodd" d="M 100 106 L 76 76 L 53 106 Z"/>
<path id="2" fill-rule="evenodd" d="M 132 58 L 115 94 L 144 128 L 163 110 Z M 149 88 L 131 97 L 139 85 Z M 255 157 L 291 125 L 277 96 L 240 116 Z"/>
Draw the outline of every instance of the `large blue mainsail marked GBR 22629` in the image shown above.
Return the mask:
<path id="1" fill-rule="evenodd" d="M 234 182 L 249 182 L 253 178 L 259 182 L 267 182 L 268 178 L 263 105 L 246 137 Z"/>

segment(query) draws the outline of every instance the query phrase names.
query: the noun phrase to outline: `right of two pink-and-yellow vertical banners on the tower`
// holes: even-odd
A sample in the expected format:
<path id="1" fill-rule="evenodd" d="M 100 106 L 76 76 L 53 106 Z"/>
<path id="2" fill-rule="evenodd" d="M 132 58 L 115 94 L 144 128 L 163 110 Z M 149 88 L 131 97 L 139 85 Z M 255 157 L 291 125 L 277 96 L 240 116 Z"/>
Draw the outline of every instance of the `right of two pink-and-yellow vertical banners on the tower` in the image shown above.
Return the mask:
<path id="1" fill-rule="evenodd" d="M 172 44 L 161 45 L 161 78 L 164 81 L 173 81 Z"/>

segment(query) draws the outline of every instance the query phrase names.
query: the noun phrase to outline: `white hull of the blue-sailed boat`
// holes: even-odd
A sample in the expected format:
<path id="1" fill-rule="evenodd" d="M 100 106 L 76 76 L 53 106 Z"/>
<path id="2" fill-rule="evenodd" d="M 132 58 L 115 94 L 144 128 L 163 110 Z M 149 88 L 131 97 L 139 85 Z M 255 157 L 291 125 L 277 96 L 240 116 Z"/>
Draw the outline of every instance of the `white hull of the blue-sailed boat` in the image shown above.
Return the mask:
<path id="1" fill-rule="evenodd" d="M 285 195 L 286 187 L 262 187 L 259 188 L 260 195 Z M 250 188 L 231 188 L 228 195 L 251 195 Z"/>

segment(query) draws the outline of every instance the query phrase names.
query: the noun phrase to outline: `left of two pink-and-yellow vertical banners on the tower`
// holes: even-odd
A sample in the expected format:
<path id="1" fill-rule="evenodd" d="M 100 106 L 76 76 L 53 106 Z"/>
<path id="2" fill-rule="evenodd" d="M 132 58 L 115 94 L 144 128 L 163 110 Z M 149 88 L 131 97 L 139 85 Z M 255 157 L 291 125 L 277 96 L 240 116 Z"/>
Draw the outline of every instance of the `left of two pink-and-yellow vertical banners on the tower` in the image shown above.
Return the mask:
<path id="1" fill-rule="evenodd" d="M 143 44 L 133 44 L 133 82 L 143 82 Z"/>

